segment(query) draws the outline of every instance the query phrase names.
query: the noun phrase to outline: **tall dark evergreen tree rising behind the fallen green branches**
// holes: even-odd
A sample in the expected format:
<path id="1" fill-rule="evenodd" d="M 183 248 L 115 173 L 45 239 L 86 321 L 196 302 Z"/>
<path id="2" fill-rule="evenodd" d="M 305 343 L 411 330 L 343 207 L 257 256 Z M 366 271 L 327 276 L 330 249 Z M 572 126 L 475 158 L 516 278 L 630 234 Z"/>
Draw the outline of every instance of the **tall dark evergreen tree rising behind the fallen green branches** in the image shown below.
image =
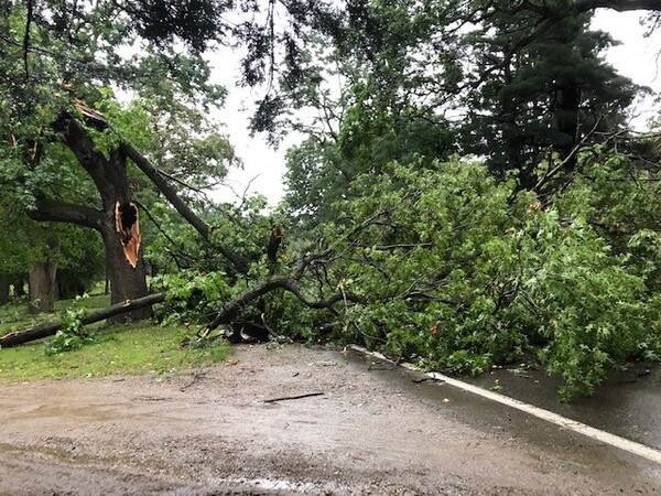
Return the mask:
<path id="1" fill-rule="evenodd" d="M 518 171 L 521 187 L 531 190 L 541 163 L 554 169 L 555 155 L 572 173 L 579 144 L 622 129 L 641 88 L 602 58 L 613 41 L 589 31 L 588 14 L 565 18 L 512 52 L 527 22 L 521 13 L 494 13 L 464 41 L 477 62 L 477 90 L 465 100 L 462 133 L 464 150 L 486 157 L 496 174 Z"/>

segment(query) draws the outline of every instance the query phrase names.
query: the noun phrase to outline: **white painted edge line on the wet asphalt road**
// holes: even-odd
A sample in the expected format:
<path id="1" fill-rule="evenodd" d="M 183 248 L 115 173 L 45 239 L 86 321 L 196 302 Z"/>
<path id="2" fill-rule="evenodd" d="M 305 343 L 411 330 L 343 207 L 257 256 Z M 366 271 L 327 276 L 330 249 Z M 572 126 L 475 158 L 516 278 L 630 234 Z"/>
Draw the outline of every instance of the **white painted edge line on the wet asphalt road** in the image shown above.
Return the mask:
<path id="1" fill-rule="evenodd" d="M 375 358 L 379 358 L 386 362 L 393 363 L 388 357 L 381 355 L 380 353 L 369 352 L 368 349 L 353 345 L 353 349 L 356 352 L 362 353 L 368 356 L 373 356 Z M 409 370 L 414 370 L 418 373 L 422 373 L 412 364 L 400 363 L 398 364 L 403 368 Z M 625 450 L 629 453 L 636 454 L 638 456 L 642 456 L 651 462 L 661 464 L 661 451 L 654 450 L 653 448 L 646 446 L 644 444 L 637 443 L 636 441 L 630 441 L 625 438 L 620 438 L 619 435 L 611 434 L 610 432 L 602 431 L 599 429 L 595 429 L 585 423 L 577 422 L 575 420 L 567 419 L 565 417 L 559 416 L 557 413 L 553 413 L 552 411 L 544 410 L 543 408 L 535 407 L 533 405 L 524 403 L 523 401 L 519 401 L 517 399 L 510 398 L 508 396 L 499 395 L 498 392 L 488 391 L 478 386 L 474 386 L 468 382 L 464 382 L 463 380 L 455 379 L 454 377 L 446 376 L 444 374 L 438 373 L 422 373 L 426 377 L 438 379 L 454 386 L 455 388 L 463 389 L 464 391 L 473 392 L 475 395 L 481 396 L 483 398 L 487 398 L 491 401 L 496 401 L 502 405 L 507 405 L 508 407 L 516 408 L 517 410 L 524 411 L 525 413 L 530 413 L 539 419 L 545 420 L 548 422 L 554 423 L 556 425 L 562 427 L 563 429 L 568 429 L 574 432 L 578 432 L 583 435 L 592 438 L 594 440 L 600 441 L 606 444 L 610 444 L 611 446 L 619 448 L 620 450 Z"/>

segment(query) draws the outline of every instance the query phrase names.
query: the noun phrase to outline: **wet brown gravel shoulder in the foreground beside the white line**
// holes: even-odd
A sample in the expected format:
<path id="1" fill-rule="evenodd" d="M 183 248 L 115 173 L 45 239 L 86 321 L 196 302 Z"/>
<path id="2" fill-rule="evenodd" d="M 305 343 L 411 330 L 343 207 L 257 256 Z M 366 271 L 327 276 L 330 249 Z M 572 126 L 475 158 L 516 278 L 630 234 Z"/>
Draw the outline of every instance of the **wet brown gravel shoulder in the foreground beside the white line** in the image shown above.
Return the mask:
<path id="1" fill-rule="evenodd" d="M 412 379 L 260 345 L 186 375 L 3 385 L 0 495 L 661 494 L 655 464 Z"/>

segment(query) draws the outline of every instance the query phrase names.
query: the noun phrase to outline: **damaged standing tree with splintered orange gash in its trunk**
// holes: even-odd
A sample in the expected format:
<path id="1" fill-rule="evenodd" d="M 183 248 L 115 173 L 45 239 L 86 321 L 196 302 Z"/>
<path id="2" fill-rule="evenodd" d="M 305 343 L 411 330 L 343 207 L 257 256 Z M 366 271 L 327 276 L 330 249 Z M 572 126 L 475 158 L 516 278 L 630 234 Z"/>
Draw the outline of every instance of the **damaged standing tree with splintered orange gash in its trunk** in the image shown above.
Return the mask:
<path id="1" fill-rule="evenodd" d="M 307 22 L 310 12 L 301 6 L 288 6 L 293 22 Z M 194 108 L 208 111 L 223 103 L 224 90 L 209 84 L 209 65 L 202 56 L 210 42 L 236 36 L 247 43 L 245 68 L 250 84 L 263 80 L 273 69 L 279 41 L 269 30 L 274 22 L 273 2 L 267 7 L 263 24 L 258 19 L 259 1 L 243 7 L 252 18 L 238 26 L 223 19 L 232 2 L 28 0 L 0 7 L 0 104 L 7 117 L 0 122 L 0 138 L 19 164 L 10 180 L 31 185 L 23 204 L 31 218 L 100 233 L 113 303 L 147 294 L 132 165 L 203 238 L 208 238 L 209 228 L 167 176 L 134 148 L 134 137 L 118 132 L 96 110 L 107 100 L 105 88 L 143 97 L 151 108 L 162 110 L 155 119 L 165 130 L 161 138 L 170 141 L 160 143 L 167 150 L 153 155 L 160 164 L 182 160 L 192 147 L 199 152 L 195 166 L 202 158 L 208 159 L 207 168 L 223 162 L 227 147 L 212 132 L 197 144 L 176 138 L 199 131 Z M 295 58 L 295 45 L 285 45 L 290 58 Z M 180 119 L 187 123 L 178 123 Z M 54 176 L 74 185 L 73 190 L 56 188 L 62 184 L 54 184 Z M 247 270 L 245 257 L 226 246 L 217 249 L 231 271 Z M 130 316 L 150 314 L 150 309 L 143 309 Z"/>

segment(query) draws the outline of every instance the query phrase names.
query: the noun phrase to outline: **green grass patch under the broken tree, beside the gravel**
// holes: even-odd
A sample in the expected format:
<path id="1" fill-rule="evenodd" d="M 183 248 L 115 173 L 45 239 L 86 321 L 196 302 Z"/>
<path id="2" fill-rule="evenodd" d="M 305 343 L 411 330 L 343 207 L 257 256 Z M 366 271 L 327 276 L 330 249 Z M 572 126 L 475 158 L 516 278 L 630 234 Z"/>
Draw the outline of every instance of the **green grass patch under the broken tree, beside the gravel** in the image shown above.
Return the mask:
<path id="1" fill-rule="evenodd" d="M 58 303 L 56 309 L 65 309 L 72 302 Z M 107 296 L 91 296 L 78 303 L 94 311 L 106 306 L 108 300 Z M 1 334 L 32 325 L 26 309 L 17 306 L 0 306 Z M 50 320 L 53 319 L 56 319 L 56 314 L 51 315 Z M 44 354 L 43 342 L 0 349 L 0 382 L 101 377 L 115 374 L 176 374 L 223 362 L 231 353 L 231 347 L 225 342 L 215 342 L 199 348 L 182 348 L 180 343 L 187 335 L 185 328 L 161 327 L 150 322 L 107 327 L 96 332 L 96 343 L 56 355 Z"/>

